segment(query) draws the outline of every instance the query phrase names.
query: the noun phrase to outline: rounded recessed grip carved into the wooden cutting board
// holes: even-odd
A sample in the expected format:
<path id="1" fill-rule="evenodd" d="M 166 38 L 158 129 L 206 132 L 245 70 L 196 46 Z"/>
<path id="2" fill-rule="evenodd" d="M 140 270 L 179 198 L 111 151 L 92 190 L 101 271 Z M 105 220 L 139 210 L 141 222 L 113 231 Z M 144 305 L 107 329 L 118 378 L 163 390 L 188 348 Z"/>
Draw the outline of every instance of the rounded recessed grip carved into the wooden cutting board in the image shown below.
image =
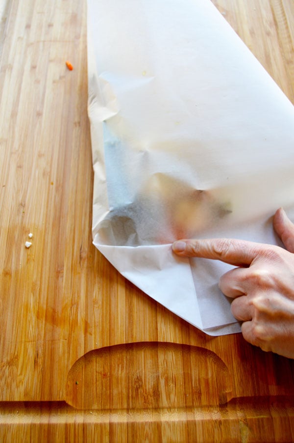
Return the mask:
<path id="1" fill-rule="evenodd" d="M 166 342 L 93 350 L 69 371 L 66 401 L 82 410 L 189 408 L 232 398 L 231 376 L 214 352 Z"/>

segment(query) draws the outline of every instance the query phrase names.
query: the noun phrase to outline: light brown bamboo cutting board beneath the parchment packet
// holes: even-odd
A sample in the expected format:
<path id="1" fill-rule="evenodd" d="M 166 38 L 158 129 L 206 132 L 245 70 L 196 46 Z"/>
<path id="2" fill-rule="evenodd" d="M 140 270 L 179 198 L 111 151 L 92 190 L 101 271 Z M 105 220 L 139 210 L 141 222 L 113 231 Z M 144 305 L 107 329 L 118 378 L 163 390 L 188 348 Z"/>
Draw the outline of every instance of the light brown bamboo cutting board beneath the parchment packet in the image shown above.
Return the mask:
<path id="1" fill-rule="evenodd" d="M 294 103 L 294 1 L 214 3 Z M 294 360 L 199 332 L 91 244 L 85 0 L 0 14 L 0 441 L 294 441 Z"/>

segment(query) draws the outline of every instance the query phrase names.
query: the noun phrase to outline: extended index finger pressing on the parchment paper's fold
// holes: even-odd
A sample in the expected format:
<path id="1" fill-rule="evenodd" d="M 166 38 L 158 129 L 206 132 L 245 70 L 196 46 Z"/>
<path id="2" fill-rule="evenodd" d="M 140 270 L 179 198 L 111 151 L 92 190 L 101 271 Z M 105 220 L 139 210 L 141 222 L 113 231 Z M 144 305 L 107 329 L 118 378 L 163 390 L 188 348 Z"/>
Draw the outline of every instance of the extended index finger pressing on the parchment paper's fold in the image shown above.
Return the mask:
<path id="1" fill-rule="evenodd" d="M 178 240 L 173 243 L 172 250 L 185 257 L 210 258 L 230 265 L 248 267 L 267 246 L 245 240 L 217 238 Z"/>

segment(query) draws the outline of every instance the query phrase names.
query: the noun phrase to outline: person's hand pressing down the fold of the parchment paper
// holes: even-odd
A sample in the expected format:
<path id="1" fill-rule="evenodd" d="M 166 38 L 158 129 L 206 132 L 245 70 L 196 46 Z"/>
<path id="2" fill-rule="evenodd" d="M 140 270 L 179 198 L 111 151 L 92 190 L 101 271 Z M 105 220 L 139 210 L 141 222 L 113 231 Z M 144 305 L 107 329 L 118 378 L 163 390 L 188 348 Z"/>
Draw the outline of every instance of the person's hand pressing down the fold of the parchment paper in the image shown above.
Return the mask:
<path id="1" fill-rule="evenodd" d="M 235 239 L 179 240 L 181 256 L 221 260 L 237 266 L 220 279 L 231 311 L 242 321 L 246 341 L 294 359 L 294 224 L 278 209 L 273 226 L 286 249 Z"/>

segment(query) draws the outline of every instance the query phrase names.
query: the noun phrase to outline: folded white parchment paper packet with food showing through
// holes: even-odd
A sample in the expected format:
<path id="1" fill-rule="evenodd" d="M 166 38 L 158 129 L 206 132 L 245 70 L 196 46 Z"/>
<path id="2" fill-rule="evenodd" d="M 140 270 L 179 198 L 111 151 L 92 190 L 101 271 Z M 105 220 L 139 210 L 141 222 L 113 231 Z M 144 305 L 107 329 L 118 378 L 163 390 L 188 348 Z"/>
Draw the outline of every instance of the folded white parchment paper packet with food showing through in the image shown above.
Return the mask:
<path id="1" fill-rule="evenodd" d="M 211 335 L 240 331 L 231 266 L 180 238 L 279 244 L 294 217 L 294 107 L 210 0 L 88 0 L 93 242 L 142 291 Z"/>

